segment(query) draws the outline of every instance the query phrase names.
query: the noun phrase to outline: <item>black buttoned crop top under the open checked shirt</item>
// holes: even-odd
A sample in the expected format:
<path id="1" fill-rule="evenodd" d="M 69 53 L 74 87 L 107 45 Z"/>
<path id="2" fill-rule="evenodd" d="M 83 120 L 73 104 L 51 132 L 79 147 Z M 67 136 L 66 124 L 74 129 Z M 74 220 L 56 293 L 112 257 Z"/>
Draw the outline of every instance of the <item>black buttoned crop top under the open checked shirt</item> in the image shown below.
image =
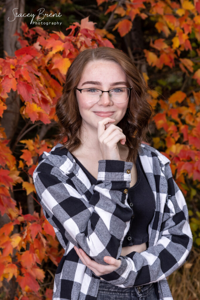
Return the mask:
<path id="1" fill-rule="evenodd" d="M 72 156 L 82 170 L 88 175 L 91 184 L 96 184 L 97 179 L 88 172 L 73 154 Z M 148 183 L 139 156 L 137 156 L 136 160 L 136 169 L 138 179 L 137 182 L 129 188 L 127 199 L 128 204 L 133 209 L 133 215 L 130 220 L 130 228 L 124 238 L 122 247 L 140 245 L 148 242 L 148 224 L 151 222 L 155 211 L 154 194 Z"/>

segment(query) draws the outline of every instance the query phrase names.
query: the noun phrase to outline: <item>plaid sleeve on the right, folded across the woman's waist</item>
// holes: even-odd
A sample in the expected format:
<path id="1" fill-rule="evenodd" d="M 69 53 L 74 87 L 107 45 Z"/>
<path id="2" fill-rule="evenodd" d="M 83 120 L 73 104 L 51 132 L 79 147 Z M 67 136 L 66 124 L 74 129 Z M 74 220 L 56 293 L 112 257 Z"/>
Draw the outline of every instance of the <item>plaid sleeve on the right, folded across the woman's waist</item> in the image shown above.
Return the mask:
<path id="1" fill-rule="evenodd" d="M 165 165 L 168 196 L 164 207 L 160 235 L 154 246 L 127 256 L 120 256 L 121 265 L 101 277 L 113 285 L 139 286 L 157 282 L 172 274 L 189 257 L 192 233 L 188 210 L 181 190 L 172 178 L 169 163 Z"/>

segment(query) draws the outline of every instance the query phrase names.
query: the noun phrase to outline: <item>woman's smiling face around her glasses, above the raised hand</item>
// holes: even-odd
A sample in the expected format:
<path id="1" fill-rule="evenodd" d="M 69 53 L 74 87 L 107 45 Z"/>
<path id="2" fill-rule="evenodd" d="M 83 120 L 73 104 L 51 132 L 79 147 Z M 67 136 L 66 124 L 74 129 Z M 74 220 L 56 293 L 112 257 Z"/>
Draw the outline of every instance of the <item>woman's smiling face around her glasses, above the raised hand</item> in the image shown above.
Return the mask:
<path id="1" fill-rule="evenodd" d="M 114 61 L 95 60 L 88 62 L 85 66 L 77 88 L 97 88 L 108 91 L 117 87 L 129 87 L 126 82 L 126 74 L 119 64 Z M 98 121 L 106 117 L 115 119 L 115 122 L 112 124 L 117 125 L 124 117 L 128 106 L 128 100 L 124 103 L 115 103 L 107 92 L 102 93 L 98 102 L 93 104 L 88 104 L 86 96 L 78 90 L 76 90 L 76 98 L 82 117 L 82 126 L 86 130 L 97 129 Z"/>

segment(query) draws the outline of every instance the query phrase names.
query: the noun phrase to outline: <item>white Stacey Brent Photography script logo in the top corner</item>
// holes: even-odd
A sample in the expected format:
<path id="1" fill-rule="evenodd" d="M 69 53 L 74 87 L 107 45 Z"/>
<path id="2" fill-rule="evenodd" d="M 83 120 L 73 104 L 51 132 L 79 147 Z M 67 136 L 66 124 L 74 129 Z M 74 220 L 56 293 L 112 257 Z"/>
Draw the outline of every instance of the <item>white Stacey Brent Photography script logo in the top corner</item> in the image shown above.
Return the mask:
<path id="1" fill-rule="evenodd" d="M 56 21 L 56 22 L 42 22 L 43 19 L 45 17 L 56 17 L 59 18 L 62 15 L 60 13 L 43 13 L 44 12 L 44 8 L 39 8 L 38 11 L 38 15 L 37 15 L 37 19 L 36 21 L 33 21 L 34 18 L 36 17 L 36 15 L 34 13 L 18 13 L 19 8 L 13 8 L 13 16 L 12 17 L 8 17 L 8 21 L 9 22 L 13 22 L 16 18 L 22 18 L 22 17 L 30 17 L 31 19 L 31 23 L 30 24 L 34 24 L 34 25 L 61 25 L 62 22 Z"/>

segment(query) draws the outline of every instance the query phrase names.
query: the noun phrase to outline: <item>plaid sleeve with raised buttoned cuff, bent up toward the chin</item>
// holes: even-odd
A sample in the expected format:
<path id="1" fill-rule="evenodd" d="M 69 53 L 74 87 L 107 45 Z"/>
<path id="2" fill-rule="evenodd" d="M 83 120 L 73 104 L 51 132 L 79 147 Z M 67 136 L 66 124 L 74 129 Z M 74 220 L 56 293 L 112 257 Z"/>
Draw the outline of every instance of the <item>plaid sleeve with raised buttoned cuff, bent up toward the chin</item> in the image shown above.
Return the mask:
<path id="1" fill-rule="evenodd" d="M 38 166 L 33 176 L 37 198 L 62 246 L 70 241 L 101 264 L 106 264 L 104 256 L 118 259 L 133 213 L 127 203 L 133 163 L 100 160 L 92 193 L 78 176 L 59 173 L 45 161 Z"/>

